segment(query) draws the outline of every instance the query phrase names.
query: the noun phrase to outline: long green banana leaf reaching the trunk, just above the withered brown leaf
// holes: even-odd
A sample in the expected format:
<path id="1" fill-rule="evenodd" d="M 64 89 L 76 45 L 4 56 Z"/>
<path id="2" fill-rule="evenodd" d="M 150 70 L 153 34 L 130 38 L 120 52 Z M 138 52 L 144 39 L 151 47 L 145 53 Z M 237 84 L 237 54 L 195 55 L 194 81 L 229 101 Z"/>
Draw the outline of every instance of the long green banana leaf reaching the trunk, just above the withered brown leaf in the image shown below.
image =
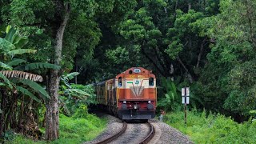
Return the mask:
<path id="1" fill-rule="evenodd" d="M 34 69 L 54 69 L 60 70 L 61 66 L 57 66 L 50 63 L 43 63 L 43 62 L 34 62 L 30 63 L 25 66 L 25 70 L 34 70 Z"/>

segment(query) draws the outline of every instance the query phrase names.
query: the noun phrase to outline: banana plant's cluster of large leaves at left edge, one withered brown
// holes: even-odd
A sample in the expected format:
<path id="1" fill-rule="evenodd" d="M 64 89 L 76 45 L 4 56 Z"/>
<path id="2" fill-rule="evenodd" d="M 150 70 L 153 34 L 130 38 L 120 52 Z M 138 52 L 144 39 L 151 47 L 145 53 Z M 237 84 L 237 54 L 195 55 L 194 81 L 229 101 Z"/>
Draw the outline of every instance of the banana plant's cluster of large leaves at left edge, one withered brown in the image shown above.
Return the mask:
<path id="1" fill-rule="evenodd" d="M 10 90 L 18 91 L 22 94 L 30 96 L 37 102 L 41 102 L 30 90 L 30 87 L 35 92 L 38 92 L 42 98 L 50 98 L 46 90 L 39 86 L 36 82 L 42 82 L 42 76 L 38 74 L 31 74 L 24 70 L 33 70 L 36 68 L 58 68 L 52 64 L 46 63 L 30 63 L 26 60 L 14 58 L 17 54 L 34 54 L 37 50 L 23 49 L 28 42 L 28 38 L 22 37 L 14 27 L 6 27 L 6 37 L 0 38 L 0 86 L 8 87 Z M 24 64 L 24 70 L 21 69 L 21 64 Z M 25 65 L 26 64 L 26 65 Z M 21 86 L 19 86 L 21 85 Z M 24 87 L 25 86 L 25 87 Z"/>

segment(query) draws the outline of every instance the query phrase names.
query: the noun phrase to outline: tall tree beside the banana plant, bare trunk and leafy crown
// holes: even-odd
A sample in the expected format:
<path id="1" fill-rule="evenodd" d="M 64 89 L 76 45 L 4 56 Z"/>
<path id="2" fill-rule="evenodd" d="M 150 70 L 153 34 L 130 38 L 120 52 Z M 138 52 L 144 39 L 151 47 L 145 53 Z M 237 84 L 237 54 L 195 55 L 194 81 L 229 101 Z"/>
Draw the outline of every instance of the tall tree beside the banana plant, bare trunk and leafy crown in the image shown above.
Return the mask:
<path id="1" fill-rule="evenodd" d="M 10 15 L 5 14 L 3 17 L 14 26 L 22 27 L 22 30 L 36 35 L 44 34 L 45 38 L 50 38 L 54 42 L 50 43 L 47 48 L 54 48 L 54 54 L 50 55 L 51 62 L 55 65 L 62 66 L 62 49 L 63 35 L 66 29 L 70 28 L 70 34 L 74 27 L 67 26 L 68 22 L 73 26 L 82 24 L 81 19 L 85 18 L 88 21 L 94 21 L 96 11 L 101 13 L 110 12 L 113 10 L 114 4 L 123 3 L 130 5 L 130 2 L 122 2 L 110 0 L 108 2 L 100 1 L 85 1 L 85 0 L 68 0 L 68 1 L 18 1 L 14 0 L 10 5 Z M 125 7 L 125 6 L 124 6 Z M 10 18 L 7 18 L 9 17 Z M 80 17 L 81 16 L 81 17 Z M 78 20 L 78 21 L 77 21 Z M 88 26 L 87 26 L 88 27 Z M 97 27 L 97 26 L 96 26 Z M 91 31 L 94 27 L 92 27 Z M 89 34 L 90 30 L 84 31 Z M 79 40 L 81 35 L 74 34 L 76 40 Z M 96 38 L 97 39 L 97 38 Z M 97 43 L 97 41 L 96 41 Z M 92 46 L 91 48 L 93 48 Z M 76 47 L 77 48 L 77 47 Z M 74 50 L 74 49 L 73 49 Z M 62 68 L 64 70 L 65 68 Z M 49 77 L 49 94 L 50 100 L 46 102 L 46 139 L 54 140 L 58 138 L 58 85 L 62 70 L 51 70 Z"/>

